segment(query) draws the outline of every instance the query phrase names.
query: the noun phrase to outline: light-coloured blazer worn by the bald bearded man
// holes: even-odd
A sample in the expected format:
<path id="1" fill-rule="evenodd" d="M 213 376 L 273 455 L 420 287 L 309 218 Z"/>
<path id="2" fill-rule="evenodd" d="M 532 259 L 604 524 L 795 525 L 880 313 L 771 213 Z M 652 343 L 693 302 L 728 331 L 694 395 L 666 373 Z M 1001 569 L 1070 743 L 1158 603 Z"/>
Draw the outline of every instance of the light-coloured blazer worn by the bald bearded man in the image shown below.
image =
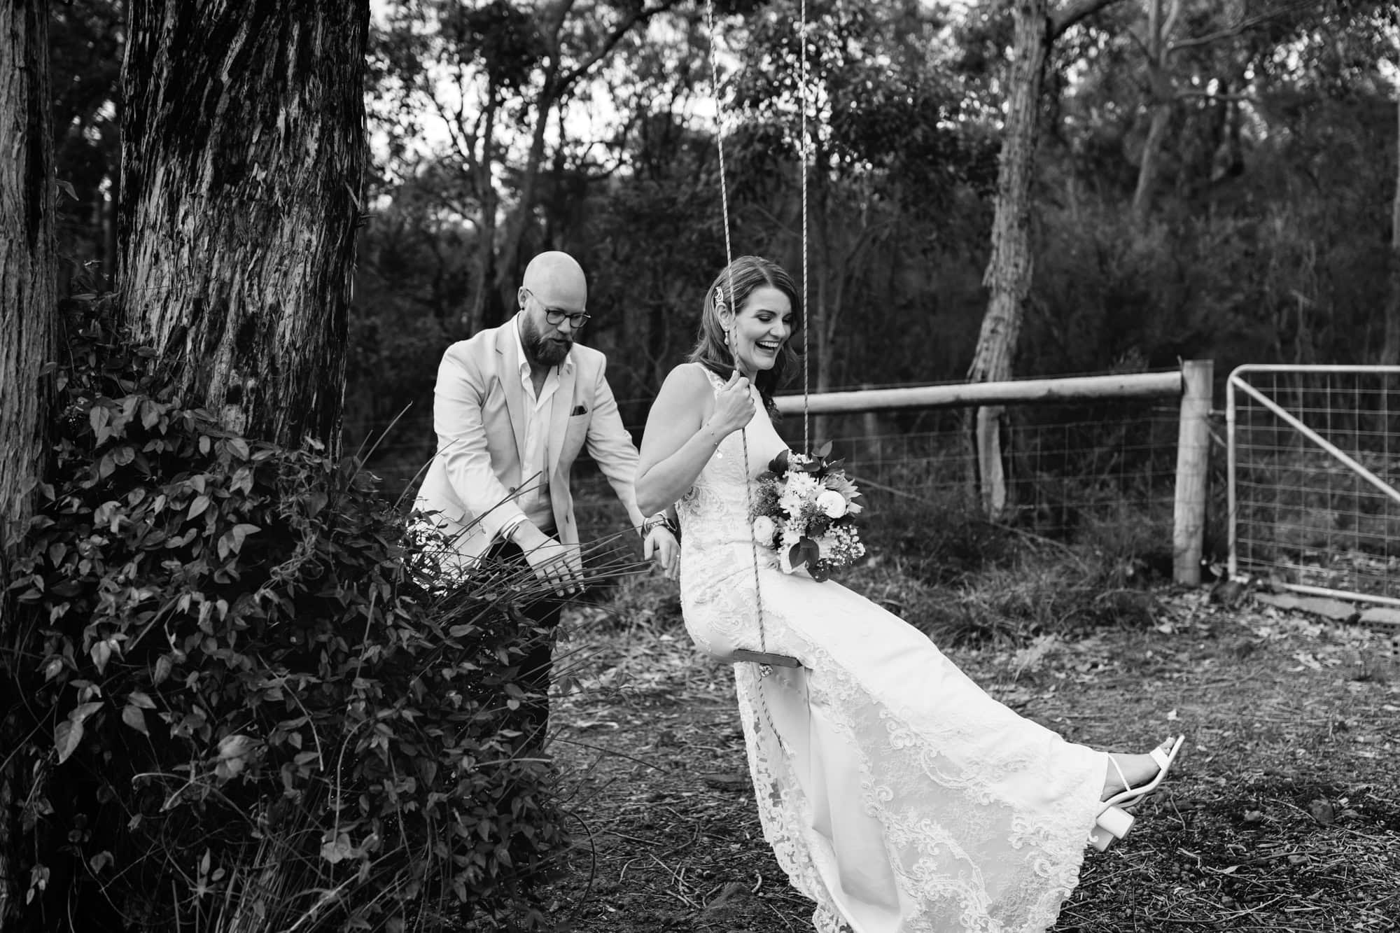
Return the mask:
<path id="1" fill-rule="evenodd" d="M 518 342 L 508 328 L 515 319 L 449 346 L 438 364 L 433 392 L 437 454 L 413 506 L 434 513 L 434 524 L 454 542 L 444 569 L 468 573 L 497 541 L 501 525 L 522 516 L 512 496 L 521 475 L 528 403 L 519 377 Z M 637 448 L 622 424 L 617 402 L 603 377 L 608 360 L 598 350 L 574 345 L 573 367 L 559 374 L 553 417 L 545 433 L 549 499 L 561 544 L 578 544 L 568 474 L 584 444 L 617 493 L 633 525 L 643 521 L 633 482 Z"/>

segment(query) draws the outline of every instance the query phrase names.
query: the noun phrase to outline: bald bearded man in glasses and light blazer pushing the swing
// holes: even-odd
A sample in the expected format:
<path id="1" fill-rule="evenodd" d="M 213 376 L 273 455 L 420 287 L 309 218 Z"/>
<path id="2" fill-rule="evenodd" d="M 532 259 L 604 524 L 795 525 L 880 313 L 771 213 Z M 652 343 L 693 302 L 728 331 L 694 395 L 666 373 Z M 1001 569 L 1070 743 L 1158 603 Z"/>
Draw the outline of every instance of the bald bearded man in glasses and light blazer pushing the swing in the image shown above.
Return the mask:
<path id="1" fill-rule="evenodd" d="M 587 444 L 644 535 L 644 555 L 672 572 L 676 539 L 665 516 L 643 520 L 633 481 L 637 448 L 603 377 L 606 359 L 574 343 L 588 324 L 584 270 L 564 252 L 543 252 L 525 269 L 519 311 L 498 328 L 451 345 L 438 366 L 433 401 L 437 455 L 414 510 L 433 513 L 452 542 L 445 563 L 469 574 L 483 558 L 528 565 L 564 597 L 582 588 L 578 527 L 568 481 Z M 522 607 L 550 630 L 522 660 L 532 693 L 518 719 L 525 747 L 538 749 L 549 727 L 557 598 Z"/>

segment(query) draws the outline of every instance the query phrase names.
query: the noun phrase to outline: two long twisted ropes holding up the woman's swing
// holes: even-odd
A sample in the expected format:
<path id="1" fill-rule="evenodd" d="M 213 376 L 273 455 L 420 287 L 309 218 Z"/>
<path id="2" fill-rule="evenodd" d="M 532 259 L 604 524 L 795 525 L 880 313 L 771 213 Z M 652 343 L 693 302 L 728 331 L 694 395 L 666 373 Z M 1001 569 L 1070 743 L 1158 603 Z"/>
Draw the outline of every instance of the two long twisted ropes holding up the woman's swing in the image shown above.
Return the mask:
<path id="1" fill-rule="evenodd" d="M 734 303 L 734 249 L 729 241 L 729 189 L 725 179 L 725 163 L 724 163 L 724 120 L 722 104 L 720 99 L 720 67 L 715 60 L 715 28 L 714 28 L 714 0 L 706 0 L 706 29 L 710 39 L 710 90 L 714 94 L 715 104 L 715 150 L 720 160 L 720 205 L 724 217 L 724 268 L 728 286 L 728 298 L 725 298 L 724 289 L 718 296 L 718 303 L 727 305 L 738 315 L 739 308 Z M 806 315 L 806 298 L 808 298 L 808 248 L 806 248 L 806 158 L 808 158 L 808 133 L 806 133 L 806 108 L 808 108 L 808 80 L 806 80 L 806 0 L 801 0 L 801 17 L 799 17 L 799 31 L 798 42 L 801 46 L 801 84 L 802 84 L 802 130 L 801 130 L 801 177 L 802 177 L 802 314 Z M 717 311 L 722 307 L 717 307 Z M 808 395 L 809 395 L 809 375 L 808 375 L 808 328 L 802 328 L 802 445 L 804 450 L 811 450 L 811 436 L 809 436 L 809 415 L 808 415 Z M 735 347 L 729 347 L 729 352 L 735 354 L 734 368 L 738 371 L 739 359 Z M 749 430 L 748 426 L 739 429 L 739 437 L 743 443 L 743 493 L 746 511 L 749 516 L 753 514 L 753 486 L 748 481 L 749 478 Z M 748 525 L 748 523 L 745 523 Z M 759 586 L 759 544 L 753 539 L 753 531 L 749 530 L 749 552 L 753 558 L 753 595 L 755 595 L 755 609 L 759 615 L 759 654 L 767 654 L 767 632 L 763 626 L 763 588 Z M 769 656 L 776 658 L 777 656 Z M 791 660 L 791 658 L 790 658 Z M 759 664 L 760 679 L 773 672 L 771 664 Z M 762 699 L 762 695 L 760 695 Z M 764 710 L 766 712 L 766 710 Z"/>

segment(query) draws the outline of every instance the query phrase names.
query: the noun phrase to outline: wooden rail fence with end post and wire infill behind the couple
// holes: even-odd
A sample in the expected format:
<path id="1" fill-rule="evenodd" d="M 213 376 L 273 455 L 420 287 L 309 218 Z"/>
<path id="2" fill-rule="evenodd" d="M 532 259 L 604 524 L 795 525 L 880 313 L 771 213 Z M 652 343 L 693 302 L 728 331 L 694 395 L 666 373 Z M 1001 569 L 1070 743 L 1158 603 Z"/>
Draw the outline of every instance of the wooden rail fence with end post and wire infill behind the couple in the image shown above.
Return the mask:
<path id="1" fill-rule="evenodd" d="M 833 441 L 834 455 L 846 458 L 867 496 L 883 499 L 882 509 L 902 510 L 976 507 L 974 458 L 962 413 L 953 409 L 1018 406 L 1008 426 L 1014 462 L 1007 521 L 1071 539 L 1106 534 L 1131 511 L 1163 539 L 1170 535 L 1173 577 L 1198 583 L 1210 374 L 1208 361 L 1193 361 L 1165 373 L 818 392 L 806 396 L 805 413 L 819 419 L 816 440 Z M 1179 401 L 1162 405 L 1165 399 Z M 801 447 L 804 398 L 774 401 L 788 416 L 780 420 L 780 434 Z M 644 412 L 644 405 L 627 409 Z M 641 424 L 629 430 L 640 436 Z M 389 424 L 351 423 L 347 437 L 372 448 L 367 464 L 385 492 L 412 504 L 434 454 L 431 413 L 412 412 L 392 431 Z M 612 492 L 585 464 L 575 469 L 580 525 L 615 531 Z"/>

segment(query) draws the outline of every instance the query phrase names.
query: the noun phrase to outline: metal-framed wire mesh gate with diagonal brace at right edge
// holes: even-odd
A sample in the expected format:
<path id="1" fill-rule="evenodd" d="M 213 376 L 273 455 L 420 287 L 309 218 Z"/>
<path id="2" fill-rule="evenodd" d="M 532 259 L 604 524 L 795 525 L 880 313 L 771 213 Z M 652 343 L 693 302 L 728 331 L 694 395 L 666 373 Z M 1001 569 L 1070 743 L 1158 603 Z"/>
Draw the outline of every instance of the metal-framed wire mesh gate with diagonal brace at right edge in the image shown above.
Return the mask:
<path id="1" fill-rule="evenodd" d="M 1400 366 L 1242 366 L 1225 403 L 1231 576 L 1400 605 Z"/>

